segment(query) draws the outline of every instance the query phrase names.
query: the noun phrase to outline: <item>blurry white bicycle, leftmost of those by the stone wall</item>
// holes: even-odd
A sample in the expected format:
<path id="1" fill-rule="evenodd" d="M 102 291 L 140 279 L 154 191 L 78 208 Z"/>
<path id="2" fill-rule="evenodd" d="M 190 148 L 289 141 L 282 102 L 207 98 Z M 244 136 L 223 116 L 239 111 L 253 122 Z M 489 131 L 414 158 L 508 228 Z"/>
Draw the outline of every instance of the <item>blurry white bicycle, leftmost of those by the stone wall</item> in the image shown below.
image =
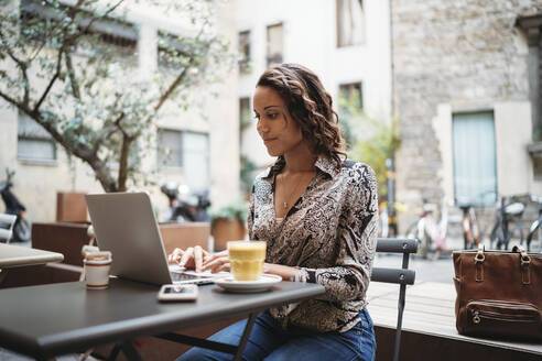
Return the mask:
<path id="1" fill-rule="evenodd" d="M 441 219 L 437 221 L 434 217 L 435 210 L 435 205 L 424 200 L 419 218 L 406 228 L 406 238 L 419 240 L 418 253 L 424 259 L 429 259 L 432 253 L 434 253 L 434 259 L 437 259 L 440 251 L 446 249 L 448 211 L 443 204 Z"/>

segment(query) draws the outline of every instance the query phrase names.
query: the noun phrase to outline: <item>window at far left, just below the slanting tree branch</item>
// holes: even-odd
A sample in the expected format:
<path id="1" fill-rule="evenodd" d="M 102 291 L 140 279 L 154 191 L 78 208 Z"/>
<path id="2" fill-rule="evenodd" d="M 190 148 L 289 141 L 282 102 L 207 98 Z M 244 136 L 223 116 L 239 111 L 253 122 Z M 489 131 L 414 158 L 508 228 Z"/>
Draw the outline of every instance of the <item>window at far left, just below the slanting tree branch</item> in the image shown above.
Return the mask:
<path id="1" fill-rule="evenodd" d="M 19 160 L 56 161 L 56 143 L 42 125 L 19 114 L 17 157 Z"/>

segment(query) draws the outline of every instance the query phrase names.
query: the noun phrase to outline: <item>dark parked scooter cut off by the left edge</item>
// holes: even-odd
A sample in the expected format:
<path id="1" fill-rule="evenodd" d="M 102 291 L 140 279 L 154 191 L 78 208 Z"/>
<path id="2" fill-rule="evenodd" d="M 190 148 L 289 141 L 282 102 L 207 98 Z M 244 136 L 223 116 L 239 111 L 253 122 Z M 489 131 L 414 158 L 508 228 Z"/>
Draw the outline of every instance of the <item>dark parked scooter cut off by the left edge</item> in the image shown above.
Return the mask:
<path id="1" fill-rule="evenodd" d="M 4 182 L 0 183 L 0 194 L 2 195 L 2 200 L 6 204 L 6 214 L 17 216 L 15 225 L 13 226 L 13 238 L 11 241 L 28 242 L 31 238 L 31 229 L 26 219 L 24 219 L 26 208 L 11 192 L 11 187 L 13 186 L 11 179 L 14 174 L 14 171 L 10 172 L 9 169 L 6 169 L 7 178 Z"/>

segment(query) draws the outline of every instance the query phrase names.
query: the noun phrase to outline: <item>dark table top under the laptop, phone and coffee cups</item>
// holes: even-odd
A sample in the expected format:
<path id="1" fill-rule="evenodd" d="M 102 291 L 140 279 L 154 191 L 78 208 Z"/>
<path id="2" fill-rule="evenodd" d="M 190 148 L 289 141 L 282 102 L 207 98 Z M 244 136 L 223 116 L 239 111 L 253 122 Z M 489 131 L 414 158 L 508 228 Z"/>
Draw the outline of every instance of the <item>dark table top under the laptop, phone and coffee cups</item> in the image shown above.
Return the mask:
<path id="1" fill-rule="evenodd" d="M 268 292 L 234 294 L 207 285 L 186 303 L 159 303 L 158 291 L 122 280 L 111 280 L 108 289 L 87 291 L 80 282 L 0 289 L 0 347 L 51 358 L 312 298 L 324 287 L 281 282 Z"/>

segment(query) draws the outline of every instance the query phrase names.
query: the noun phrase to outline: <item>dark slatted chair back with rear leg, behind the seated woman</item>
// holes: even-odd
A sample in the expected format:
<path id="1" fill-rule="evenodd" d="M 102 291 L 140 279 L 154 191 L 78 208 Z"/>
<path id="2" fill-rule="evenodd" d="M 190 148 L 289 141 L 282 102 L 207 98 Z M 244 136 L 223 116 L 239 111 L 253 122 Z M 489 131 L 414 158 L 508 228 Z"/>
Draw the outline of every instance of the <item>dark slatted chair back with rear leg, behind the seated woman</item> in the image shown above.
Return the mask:
<path id="1" fill-rule="evenodd" d="M 399 303 L 397 316 L 395 346 L 393 349 L 393 360 L 399 360 L 399 348 L 401 344 L 401 328 L 403 324 L 404 298 L 406 295 L 406 285 L 413 285 L 416 274 L 415 271 L 409 270 L 409 260 L 411 253 L 418 251 L 418 240 L 401 238 L 379 238 L 377 241 L 377 252 L 382 253 L 402 253 L 401 269 L 391 267 L 372 267 L 371 282 L 386 282 L 399 284 Z"/>

